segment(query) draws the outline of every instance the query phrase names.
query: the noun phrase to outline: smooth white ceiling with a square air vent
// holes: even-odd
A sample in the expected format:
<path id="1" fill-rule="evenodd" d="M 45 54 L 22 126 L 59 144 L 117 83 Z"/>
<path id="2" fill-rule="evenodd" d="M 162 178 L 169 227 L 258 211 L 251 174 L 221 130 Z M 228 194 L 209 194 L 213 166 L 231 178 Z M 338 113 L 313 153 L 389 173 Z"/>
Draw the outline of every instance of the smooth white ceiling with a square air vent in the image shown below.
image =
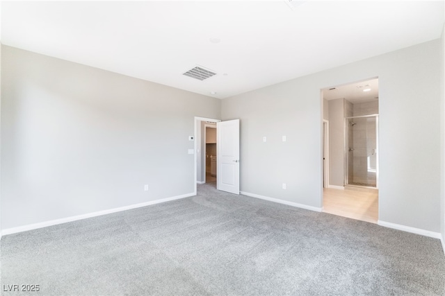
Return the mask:
<path id="1" fill-rule="evenodd" d="M 1 1 L 1 42 L 226 98 L 437 39 L 444 24 L 444 1 L 296 2 Z M 197 65 L 217 75 L 182 75 Z"/>

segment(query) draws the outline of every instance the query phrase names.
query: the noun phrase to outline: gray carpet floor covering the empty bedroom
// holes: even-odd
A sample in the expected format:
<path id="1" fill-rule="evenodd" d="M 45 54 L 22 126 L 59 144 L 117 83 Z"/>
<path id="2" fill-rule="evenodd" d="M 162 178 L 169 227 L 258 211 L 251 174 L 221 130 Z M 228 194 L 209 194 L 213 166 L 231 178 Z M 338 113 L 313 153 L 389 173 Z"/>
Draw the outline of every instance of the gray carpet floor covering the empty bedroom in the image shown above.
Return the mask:
<path id="1" fill-rule="evenodd" d="M 445 295 L 439 240 L 198 186 L 1 240 L 3 295 Z M 39 292 L 6 292 L 8 285 Z"/>

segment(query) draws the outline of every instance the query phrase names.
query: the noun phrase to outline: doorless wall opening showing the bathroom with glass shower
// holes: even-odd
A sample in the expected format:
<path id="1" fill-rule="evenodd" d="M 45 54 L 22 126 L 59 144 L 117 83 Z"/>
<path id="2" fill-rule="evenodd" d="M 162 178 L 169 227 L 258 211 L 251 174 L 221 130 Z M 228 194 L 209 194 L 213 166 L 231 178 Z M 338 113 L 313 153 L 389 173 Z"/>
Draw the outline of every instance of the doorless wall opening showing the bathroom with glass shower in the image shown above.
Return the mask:
<path id="1" fill-rule="evenodd" d="M 322 89 L 323 211 L 378 221 L 378 78 Z"/>

